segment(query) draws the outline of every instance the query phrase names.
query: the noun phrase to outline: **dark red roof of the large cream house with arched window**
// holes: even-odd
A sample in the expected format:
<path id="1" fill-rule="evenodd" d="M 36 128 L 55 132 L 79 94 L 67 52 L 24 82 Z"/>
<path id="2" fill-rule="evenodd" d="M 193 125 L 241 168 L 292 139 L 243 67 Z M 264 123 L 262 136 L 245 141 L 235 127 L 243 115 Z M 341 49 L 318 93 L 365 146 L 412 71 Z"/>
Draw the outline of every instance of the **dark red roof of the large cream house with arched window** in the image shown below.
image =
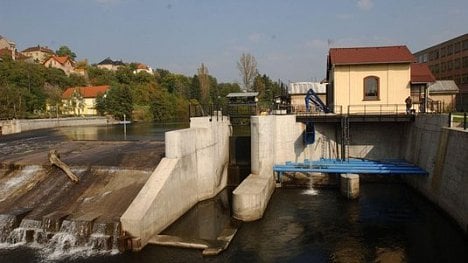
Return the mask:
<path id="1" fill-rule="evenodd" d="M 411 63 L 415 61 L 406 46 L 330 48 L 333 65 Z"/>

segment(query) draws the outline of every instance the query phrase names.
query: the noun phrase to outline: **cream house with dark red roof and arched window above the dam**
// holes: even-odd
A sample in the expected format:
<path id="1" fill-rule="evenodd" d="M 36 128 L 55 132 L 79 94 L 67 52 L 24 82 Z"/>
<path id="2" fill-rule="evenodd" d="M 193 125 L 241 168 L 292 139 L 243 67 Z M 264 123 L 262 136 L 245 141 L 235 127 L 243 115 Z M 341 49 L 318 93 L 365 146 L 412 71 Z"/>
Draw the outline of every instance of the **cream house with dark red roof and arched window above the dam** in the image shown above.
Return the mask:
<path id="1" fill-rule="evenodd" d="M 412 87 L 423 87 L 424 98 L 425 87 L 434 81 L 432 74 L 412 75 L 413 67 L 421 69 L 414 62 L 406 46 L 331 48 L 327 105 L 343 113 L 403 113 Z"/>

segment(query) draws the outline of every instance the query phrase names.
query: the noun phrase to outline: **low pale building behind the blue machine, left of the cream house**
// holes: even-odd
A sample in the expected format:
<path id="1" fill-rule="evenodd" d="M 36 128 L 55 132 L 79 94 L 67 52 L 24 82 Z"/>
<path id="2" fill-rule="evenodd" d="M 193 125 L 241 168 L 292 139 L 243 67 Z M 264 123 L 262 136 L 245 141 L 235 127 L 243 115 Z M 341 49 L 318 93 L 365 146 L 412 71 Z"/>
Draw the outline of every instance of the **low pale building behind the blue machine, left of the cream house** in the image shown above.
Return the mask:
<path id="1" fill-rule="evenodd" d="M 293 112 L 306 111 L 305 97 L 310 89 L 312 89 L 323 102 L 326 101 L 326 84 L 320 82 L 291 82 L 288 86 L 288 94 L 291 97 Z"/>

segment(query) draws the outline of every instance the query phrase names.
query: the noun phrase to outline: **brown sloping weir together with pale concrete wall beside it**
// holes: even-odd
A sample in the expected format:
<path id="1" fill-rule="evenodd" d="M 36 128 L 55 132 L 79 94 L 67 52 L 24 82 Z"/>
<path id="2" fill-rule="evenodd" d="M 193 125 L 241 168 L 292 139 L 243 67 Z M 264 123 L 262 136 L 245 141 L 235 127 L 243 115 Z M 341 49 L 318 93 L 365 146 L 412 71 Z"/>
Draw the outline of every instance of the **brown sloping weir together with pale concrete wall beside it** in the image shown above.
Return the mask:
<path id="1" fill-rule="evenodd" d="M 0 243 L 51 254 L 143 248 L 226 187 L 229 120 L 193 118 L 190 126 L 167 132 L 165 144 L 70 141 L 47 130 L 4 137 Z M 51 149 L 78 182 L 49 163 Z"/>

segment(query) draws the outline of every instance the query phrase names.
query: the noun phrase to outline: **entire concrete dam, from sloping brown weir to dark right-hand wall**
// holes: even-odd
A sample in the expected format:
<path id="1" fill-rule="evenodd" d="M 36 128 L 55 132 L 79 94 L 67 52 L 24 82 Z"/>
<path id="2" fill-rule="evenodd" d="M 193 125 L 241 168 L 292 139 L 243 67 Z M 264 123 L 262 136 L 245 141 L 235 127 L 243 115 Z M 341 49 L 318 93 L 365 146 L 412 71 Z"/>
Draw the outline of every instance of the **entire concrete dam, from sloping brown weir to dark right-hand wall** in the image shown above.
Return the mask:
<path id="1" fill-rule="evenodd" d="M 339 158 L 346 147 L 350 157 L 405 159 L 428 171 L 428 176 L 402 177 L 466 232 L 468 133 L 447 123 L 445 115 L 424 114 L 414 122 L 352 123 L 347 144 L 335 124 L 318 123 L 315 142 L 306 144 L 306 125 L 296 116 L 252 116 L 251 174 L 232 193 L 233 217 L 253 221 L 263 216 L 277 187 L 275 164 Z M 74 247 L 137 251 L 158 244 L 164 229 L 226 188 L 231 135 L 229 118 L 198 117 L 188 129 L 167 132 L 165 144 L 49 140 L 21 150 L 28 139 L 6 143 L 0 243 L 40 244 L 64 253 Z M 47 162 L 49 149 L 59 151 L 78 184 Z M 307 176 L 324 180 L 328 175 Z M 222 248 L 235 234 L 228 230 L 218 237 Z"/>

